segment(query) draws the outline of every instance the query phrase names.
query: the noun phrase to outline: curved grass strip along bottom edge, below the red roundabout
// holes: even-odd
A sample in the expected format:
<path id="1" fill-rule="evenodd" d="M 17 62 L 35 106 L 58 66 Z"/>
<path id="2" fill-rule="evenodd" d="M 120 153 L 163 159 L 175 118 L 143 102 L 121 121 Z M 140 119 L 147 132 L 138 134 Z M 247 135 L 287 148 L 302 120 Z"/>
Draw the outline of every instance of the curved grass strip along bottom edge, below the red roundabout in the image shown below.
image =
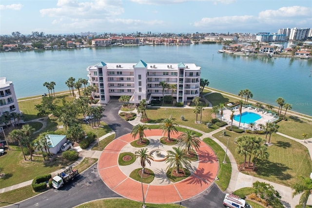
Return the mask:
<path id="1" fill-rule="evenodd" d="M 141 208 L 142 202 L 135 202 L 129 199 L 100 199 L 79 205 L 75 208 Z M 145 204 L 146 208 L 184 208 L 176 204 Z"/>

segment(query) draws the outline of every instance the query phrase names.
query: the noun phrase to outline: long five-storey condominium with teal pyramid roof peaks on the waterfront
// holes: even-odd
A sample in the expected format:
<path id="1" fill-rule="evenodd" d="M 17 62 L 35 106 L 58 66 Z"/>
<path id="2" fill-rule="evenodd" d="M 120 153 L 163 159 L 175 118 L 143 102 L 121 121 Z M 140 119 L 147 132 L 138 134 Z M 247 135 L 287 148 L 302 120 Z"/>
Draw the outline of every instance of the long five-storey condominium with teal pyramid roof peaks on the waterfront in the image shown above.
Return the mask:
<path id="1" fill-rule="evenodd" d="M 97 85 L 94 97 L 107 104 L 112 97 L 129 95 L 130 103 L 146 103 L 172 95 L 176 102 L 186 103 L 199 96 L 200 67 L 195 63 L 104 63 L 87 68 L 89 83 Z M 161 82 L 176 85 L 165 88 Z"/>

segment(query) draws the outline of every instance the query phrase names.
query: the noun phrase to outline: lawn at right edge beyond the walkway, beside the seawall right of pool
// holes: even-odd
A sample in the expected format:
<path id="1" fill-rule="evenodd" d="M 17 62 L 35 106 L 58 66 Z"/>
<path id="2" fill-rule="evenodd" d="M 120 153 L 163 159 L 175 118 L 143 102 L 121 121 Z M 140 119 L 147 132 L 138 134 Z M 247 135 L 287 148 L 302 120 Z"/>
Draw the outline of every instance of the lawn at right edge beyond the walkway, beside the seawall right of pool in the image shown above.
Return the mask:
<path id="1" fill-rule="evenodd" d="M 296 139 L 302 139 L 302 134 L 308 134 L 306 139 L 312 137 L 312 122 L 301 119 L 295 116 L 288 116 L 286 114 L 286 118 L 288 121 L 280 121 L 278 122 L 279 128 L 278 131 L 286 134 L 288 136 L 291 136 Z"/>

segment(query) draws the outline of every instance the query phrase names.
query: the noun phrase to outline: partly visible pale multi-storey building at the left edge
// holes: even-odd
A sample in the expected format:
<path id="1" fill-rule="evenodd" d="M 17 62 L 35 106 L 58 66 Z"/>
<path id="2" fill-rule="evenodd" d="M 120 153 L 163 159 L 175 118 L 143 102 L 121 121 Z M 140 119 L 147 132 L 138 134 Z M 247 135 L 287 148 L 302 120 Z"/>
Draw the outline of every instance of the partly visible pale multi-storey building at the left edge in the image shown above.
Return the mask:
<path id="1" fill-rule="evenodd" d="M 16 99 L 13 83 L 7 82 L 5 77 L 0 77 L 0 117 L 6 117 L 13 112 L 20 114 L 20 108 L 18 100 Z M 0 126 L 10 123 L 14 125 L 13 119 L 13 117 L 10 117 L 9 120 L 4 122 L 2 117 Z M 10 120 L 12 121 L 10 122 Z"/>

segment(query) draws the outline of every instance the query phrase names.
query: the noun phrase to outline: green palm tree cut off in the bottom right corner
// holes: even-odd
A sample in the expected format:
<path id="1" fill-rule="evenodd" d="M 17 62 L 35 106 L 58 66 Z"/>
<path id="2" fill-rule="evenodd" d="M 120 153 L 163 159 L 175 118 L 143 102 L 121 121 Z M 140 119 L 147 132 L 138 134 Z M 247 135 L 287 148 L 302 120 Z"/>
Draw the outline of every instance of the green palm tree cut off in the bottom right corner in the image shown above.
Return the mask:
<path id="1" fill-rule="evenodd" d="M 300 178 L 301 181 L 292 186 L 292 188 L 294 189 L 294 191 L 292 192 L 292 197 L 300 193 L 303 193 L 300 197 L 299 205 L 302 205 L 302 208 L 305 208 L 309 196 L 312 194 L 312 179 L 304 177 Z"/>

